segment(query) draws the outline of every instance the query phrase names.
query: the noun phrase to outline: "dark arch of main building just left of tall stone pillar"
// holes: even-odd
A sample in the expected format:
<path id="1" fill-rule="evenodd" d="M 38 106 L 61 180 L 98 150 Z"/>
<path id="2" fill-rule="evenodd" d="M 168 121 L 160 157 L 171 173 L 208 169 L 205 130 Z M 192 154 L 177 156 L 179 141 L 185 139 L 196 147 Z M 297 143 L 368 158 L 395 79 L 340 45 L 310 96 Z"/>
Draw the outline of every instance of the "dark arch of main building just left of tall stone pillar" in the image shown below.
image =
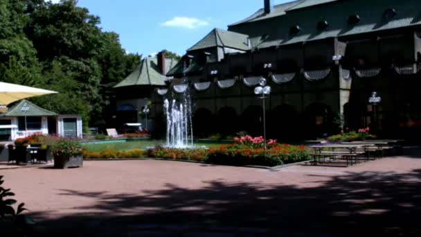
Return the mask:
<path id="1" fill-rule="evenodd" d="M 305 137 L 316 139 L 332 135 L 334 132 L 332 109 L 323 103 L 312 103 L 303 114 Z"/>

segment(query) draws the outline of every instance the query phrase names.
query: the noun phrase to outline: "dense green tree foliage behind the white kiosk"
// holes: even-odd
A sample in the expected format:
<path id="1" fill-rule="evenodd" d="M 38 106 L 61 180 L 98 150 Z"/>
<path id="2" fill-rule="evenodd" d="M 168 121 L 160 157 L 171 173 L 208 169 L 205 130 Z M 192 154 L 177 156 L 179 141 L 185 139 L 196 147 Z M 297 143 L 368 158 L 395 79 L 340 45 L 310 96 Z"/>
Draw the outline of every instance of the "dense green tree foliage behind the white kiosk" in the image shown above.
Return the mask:
<path id="1" fill-rule="evenodd" d="M 107 121 L 112 87 L 140 62 L 75 0 L 0 0 L 0 78 L 59 94 L 32 98 L 60 114 Z"/>

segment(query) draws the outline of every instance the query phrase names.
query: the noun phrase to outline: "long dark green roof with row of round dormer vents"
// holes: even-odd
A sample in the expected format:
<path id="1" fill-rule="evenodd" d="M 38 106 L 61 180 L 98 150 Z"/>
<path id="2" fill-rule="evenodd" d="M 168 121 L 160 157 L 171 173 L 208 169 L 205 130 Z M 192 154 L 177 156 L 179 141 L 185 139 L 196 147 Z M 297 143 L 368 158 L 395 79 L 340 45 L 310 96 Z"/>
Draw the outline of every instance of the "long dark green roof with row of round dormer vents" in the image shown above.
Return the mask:
<path id="1" fill-rule="evenodd" d="M 305 4 L 305 2 L 307 3 Z M 312 3 L 312 8 L 308 8 L 310 3 Z M 295 4 L 296 9 L 301 10 L 289 8 L 284 15 L 231 25 L 229 30 L 250 35 L 253 45 L 259 42 L 262 35 L 267 34 L 269 35 L 267 40 L 259 45 L 260 48 L 265 48 L 421 24 L 418 10 L 421 8 L 421 1 L 418 0 L 370 1 L 370 7 L 368 7 L 367 0 L 307 0 L 301 4 Z M 317 6 L 314 6 L 315 4 Z M 299 5 L 302 8 L 298 8 Z M 395 8 L 397 15 L 391 19 L 384 19 L 384 11 L 388 8 Z M 349 25 L 348 16 L 350 15 L 359 15 L 361 18 L 359 24 Z M 317 23 L 322 20 L 328 21 L 329 27 L 326 30 L 317 29 Z M 300 26 L 301 32 L 291 35 L 289 29 L 292 26 Z"/>

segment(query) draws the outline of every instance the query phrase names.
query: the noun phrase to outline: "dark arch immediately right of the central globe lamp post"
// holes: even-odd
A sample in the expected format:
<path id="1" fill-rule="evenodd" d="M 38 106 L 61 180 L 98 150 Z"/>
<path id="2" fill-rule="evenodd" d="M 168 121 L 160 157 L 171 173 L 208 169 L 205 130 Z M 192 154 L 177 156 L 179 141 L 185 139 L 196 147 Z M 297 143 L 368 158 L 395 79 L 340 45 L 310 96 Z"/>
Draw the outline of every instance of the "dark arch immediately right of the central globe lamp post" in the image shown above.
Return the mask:
<path id="1" fill-rule="evenodd" d="M 299 116 L 292 105 L 278 105 L 269 112 L 267 135 L 282 142 L 300 138 Z"/>

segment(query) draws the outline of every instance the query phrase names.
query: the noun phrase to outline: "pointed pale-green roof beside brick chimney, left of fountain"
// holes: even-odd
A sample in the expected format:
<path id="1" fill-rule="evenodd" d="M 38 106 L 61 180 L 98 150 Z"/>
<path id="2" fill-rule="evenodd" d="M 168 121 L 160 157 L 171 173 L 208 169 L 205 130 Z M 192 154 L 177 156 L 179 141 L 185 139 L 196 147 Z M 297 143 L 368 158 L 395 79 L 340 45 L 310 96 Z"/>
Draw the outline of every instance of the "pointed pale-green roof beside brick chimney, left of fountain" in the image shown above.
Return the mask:
<path id="1" fill-rule="evenodd" d="M 165 58 L 165 73 L 170 71 L 175 64 L 177 64 L 177 60 Z M 161 74 L 156 57 L 147 57 L 141 61 L 141 64 L 125 80 L 118 83 L 114 88 L 134 85 L 165 85 L 165 78 Z"/>

